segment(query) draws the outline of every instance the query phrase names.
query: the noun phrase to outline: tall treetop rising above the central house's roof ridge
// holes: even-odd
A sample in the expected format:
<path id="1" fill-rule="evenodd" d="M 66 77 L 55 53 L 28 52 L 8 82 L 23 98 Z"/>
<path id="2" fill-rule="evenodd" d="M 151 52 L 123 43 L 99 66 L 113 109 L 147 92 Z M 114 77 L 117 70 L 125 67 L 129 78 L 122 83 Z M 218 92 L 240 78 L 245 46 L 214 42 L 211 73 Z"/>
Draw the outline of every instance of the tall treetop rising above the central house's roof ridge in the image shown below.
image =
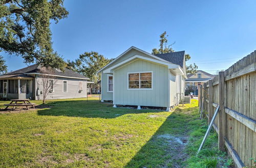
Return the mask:
<path id="1" fill-rule="evenodd" d="M 159 45 L 160 48 L 159 49 L 153 48 L 152 49 L 152 54 L 174 52 L 174 50 L 171 46 L 174 45 L 175 42 L 170 44 L 170 45 L 167 45 L 167 42 L 168 42 L 167 37 L 168 37 L 168 35 L 166 35 L 166 32 L 164 32 L 160 35 L 160 40 L 159 40 L 160 41 L 160 45 Z"/>

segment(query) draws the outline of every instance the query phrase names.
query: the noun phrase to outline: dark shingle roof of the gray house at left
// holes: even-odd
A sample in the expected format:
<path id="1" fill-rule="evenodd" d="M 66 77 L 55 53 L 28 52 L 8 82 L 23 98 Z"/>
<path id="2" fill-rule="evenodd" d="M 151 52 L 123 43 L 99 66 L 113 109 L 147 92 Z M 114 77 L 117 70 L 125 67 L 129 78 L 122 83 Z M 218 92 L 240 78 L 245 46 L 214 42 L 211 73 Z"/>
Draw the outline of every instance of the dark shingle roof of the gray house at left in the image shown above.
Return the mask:
<path id="1" fill-rule="evenodd" d="M 40 73 L 40 69 L 41 69 L 40 65 L 34 64 L 34 65 L 28 66 L 26 68 L 22 68 L 22 69 L 19 69 L 19 70 L 16 70 L 16 71 L 6 73 L 4 75 L 14 75 L 14 74 L 23 74 L 23 73 Z M 58 70 L 55 69 L 54 70 L 54 75 L 89 79 L 88 77 L 83 76 L 83 75 L 81 75 L 79 73 L 76 73 L 76 72 L 74 72 L 70 69 L 67 69 L 67 68 L 65 68 L 65 72 L 58 71 Z"/>

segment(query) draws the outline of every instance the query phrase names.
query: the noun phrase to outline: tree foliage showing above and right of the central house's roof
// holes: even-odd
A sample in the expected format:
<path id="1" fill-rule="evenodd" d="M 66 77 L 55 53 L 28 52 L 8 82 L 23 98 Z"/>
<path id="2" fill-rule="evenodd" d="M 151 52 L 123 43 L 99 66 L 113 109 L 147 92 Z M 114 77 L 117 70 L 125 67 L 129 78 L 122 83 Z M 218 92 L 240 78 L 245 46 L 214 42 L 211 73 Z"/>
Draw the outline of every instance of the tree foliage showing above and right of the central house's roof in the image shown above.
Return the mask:
<path id="1" fill-rule="evenodd" d="M 172 43 L 170 45 L 168 45 L 168 40 L 167 40 L 168 35 L 166 34 L 166 32 L 162 33 L 160 35 L 160 45 L 159 45 L 159 49 L 157 48 L 153 48 L 152 49 L 152 54 L 159 54 L 159 53 L 168 53 L 168 52 L 175 52 L 175 50 L 172 48 L 172 45 L 175 44 Z M 189 54 L 185 54 L 185 61 L 190 60 L 191 57 Z M 198 66 L 194 63 L 194 64 L 190 64 L 190 65 L 186 65 L 186 73 L 187 74 L 195 74 L 197 72 Z"/>

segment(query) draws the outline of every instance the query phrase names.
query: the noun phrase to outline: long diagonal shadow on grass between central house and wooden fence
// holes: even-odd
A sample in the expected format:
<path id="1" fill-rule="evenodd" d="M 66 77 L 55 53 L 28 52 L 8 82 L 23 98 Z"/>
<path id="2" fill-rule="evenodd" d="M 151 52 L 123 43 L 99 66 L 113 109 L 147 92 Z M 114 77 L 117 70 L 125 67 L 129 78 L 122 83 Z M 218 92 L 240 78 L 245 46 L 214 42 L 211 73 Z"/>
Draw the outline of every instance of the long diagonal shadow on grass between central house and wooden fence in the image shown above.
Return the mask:
<path id="1" fill-rule="evenodd" d="M 125 167 L 184 167 L 188 134 L 200 125 L 197 111 L 176 108 Z"/>

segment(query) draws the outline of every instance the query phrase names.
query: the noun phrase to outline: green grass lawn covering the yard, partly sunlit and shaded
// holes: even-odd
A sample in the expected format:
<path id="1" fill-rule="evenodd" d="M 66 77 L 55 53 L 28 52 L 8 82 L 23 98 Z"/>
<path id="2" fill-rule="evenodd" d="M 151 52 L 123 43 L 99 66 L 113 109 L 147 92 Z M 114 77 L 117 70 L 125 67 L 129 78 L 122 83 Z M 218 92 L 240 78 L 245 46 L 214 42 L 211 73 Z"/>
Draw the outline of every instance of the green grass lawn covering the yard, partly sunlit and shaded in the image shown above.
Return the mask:
<path id="1" fill-rule="evenodd" d="M 0 167 L 214 167 L 231 163 L 218 152 L 214 132 L 195 156 L 207 129 L 206 121 L 199 120 L 197 100 L 166 112 L 113 108 L 97 99 L 51 100 L 47 108 L 0 114 Z M 5 103 L 0 101 L 0 108 Z"/>

